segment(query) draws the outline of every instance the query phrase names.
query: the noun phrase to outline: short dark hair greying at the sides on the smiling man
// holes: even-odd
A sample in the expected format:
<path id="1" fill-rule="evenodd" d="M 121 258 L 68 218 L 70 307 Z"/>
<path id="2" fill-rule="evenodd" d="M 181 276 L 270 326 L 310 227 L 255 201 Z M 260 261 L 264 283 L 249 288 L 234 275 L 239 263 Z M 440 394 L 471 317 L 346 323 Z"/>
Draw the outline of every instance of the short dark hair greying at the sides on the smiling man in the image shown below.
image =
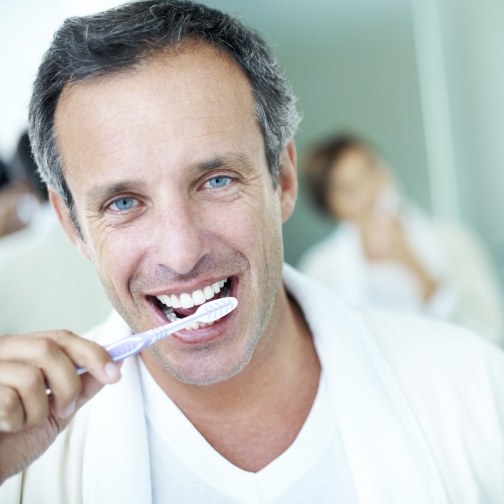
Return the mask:
<path id="1" fill-rule="evenodd" d="M 279 157 L 296 132 L 296 98 L 277 60 L 254 31 L 216 9 L 185 0 L 132 2 L 67 19 L 44 55 L 30 102 L 30 139 L 39 173 L 60 194 L 76 223 L 63 175 L 54 114 L 63 87 L 138 65 L 185 39 L 197 39 L 230 55 L 248 78 L 255 98 L 269 171 L 276 186 Z"/>

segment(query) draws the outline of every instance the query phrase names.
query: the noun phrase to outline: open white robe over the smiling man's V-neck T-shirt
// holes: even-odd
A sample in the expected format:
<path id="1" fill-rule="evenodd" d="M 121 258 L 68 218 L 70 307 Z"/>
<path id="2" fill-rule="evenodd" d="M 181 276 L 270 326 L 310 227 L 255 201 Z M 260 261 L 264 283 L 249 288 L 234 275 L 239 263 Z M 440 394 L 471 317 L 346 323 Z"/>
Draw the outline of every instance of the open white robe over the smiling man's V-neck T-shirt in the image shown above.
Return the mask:
<path id="1" fill-rule="evenodd" d="M 360 501 L 504 502 L 504 353 L 448 324 L 349 308 L 288 266 L 284 282 L 313 333 Z M 90 336 L 126 334 L 114 314 Z M 149 502 L 135 358 L 122 373 L 0 487 L 2 504 Z"/>

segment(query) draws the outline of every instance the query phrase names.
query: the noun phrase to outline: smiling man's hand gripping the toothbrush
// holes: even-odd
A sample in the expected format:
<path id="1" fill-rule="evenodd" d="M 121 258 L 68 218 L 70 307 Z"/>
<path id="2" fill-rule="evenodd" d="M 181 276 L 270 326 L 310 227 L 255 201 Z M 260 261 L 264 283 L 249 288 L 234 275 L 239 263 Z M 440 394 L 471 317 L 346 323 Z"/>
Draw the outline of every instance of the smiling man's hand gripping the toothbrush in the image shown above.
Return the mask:
<path id="1" fill-rule="evenodd" d="M 76 366 L 88 372 L 79 376 Z M 103 347 L 69 331 L 0 336 L 0 484 L 44 453 L 75 412 L 119 378 Z"/>

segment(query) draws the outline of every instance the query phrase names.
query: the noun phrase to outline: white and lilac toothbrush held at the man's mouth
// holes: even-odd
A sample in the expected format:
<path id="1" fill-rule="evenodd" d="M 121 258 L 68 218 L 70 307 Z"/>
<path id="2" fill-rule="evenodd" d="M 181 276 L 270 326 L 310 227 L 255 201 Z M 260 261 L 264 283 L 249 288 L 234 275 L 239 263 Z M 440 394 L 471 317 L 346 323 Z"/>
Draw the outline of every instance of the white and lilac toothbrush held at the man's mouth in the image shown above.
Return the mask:
<path id="1" fill-rule="evenodd" d="M 202 304 L 188 317 L 160 327 L 155 327 L 154 329 L 149 329 L 148 331 L 132 334 L 131 336 L 110 343 L 104 348 L 110 354 L 113 361 L 121 361 L 141 352 L 161 338 L 165 338 L 191 324 L 196 322 L 201 322 L 203 324 L 214 322 L 232 312 L 237 306 L 238 300 L 234 297 L 214 299 L 213 301 Z M 78 374 L 85 373 L 86 371 L 85 368 L 77 368 Z"/>

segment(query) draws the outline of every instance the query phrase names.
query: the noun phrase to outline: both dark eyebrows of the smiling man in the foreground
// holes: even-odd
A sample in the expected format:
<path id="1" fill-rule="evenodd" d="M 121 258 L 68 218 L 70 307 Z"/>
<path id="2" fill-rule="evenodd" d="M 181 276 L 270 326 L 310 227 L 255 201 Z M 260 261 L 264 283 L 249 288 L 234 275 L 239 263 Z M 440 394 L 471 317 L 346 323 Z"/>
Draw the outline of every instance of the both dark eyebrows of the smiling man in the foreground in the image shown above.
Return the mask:
<path id="1" fill-rule="evenodd" d="M 239 168 L 243 175 L 247 177 L 253 173 L 256 165 L 255 163 L 252 163 L 247 156 L 241 153 L 229 153 L 195 164 L 196 170 L 202 173 L 225 167 Z M 138 191 L 139 188 L 141 189 L 144 185 L 145 182 L 141 179 L 131 179 L 123 180 L 110 185 L 93 186 L 86 192 L 86 206 L 88 208 L 96 208 L 116 194 Z"/>

